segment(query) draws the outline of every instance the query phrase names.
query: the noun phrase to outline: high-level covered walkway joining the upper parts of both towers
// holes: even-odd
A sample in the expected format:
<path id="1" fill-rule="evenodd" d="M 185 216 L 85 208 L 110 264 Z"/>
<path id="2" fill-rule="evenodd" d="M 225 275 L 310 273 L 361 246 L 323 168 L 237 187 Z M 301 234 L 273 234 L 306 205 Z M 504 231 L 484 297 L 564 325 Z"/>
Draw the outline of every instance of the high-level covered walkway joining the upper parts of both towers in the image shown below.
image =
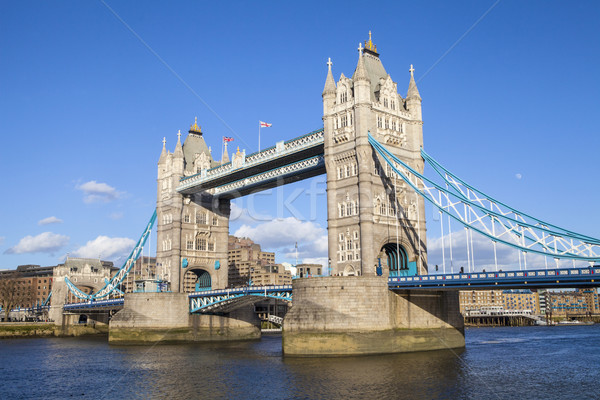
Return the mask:
<path id="1" fill-rule="evenodd" d="M 324 174 L 323 154 L 323 129 L 318 129 L 248 156 L 234 155 L 231 162 L 181 178 L 176 190 L 181 194 L 212 190 L 222 198 L 245 196 Z"/>

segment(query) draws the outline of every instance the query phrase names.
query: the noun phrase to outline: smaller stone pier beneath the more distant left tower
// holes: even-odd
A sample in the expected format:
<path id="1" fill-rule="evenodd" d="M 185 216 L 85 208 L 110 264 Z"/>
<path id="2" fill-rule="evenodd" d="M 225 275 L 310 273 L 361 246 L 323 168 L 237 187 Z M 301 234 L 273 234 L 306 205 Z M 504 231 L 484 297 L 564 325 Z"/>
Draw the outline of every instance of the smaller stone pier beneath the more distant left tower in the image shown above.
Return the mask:
<path id="1" fill-rule="evenodd" d="M 109 323 L 112 344 L 260 339 L 260 320 L 251 308 L 223 315 L 189 313 L 186 293 L 128 293 Z"/>

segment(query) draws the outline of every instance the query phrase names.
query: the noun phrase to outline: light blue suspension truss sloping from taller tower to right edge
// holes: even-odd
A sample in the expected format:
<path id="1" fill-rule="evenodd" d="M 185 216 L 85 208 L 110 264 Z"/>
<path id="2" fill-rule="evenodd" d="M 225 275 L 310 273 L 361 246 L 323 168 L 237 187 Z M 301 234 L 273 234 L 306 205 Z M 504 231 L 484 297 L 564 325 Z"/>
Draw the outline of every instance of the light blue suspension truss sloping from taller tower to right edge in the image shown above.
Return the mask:
<path id="1" fill-rule="evenodd" d="M 471 231 L 471 236 L 472 231 L 475 231 L 494 243 L 520 250 L 519 255 L 523 253 L 525 267 L 527 253 L 551 256 L 557 260 L 571 259 L 590 263 L 600 260 L 600 239 L 560 228 L 507 206 L 465 183 L 424 150 L 421 150 L 423 160 L 441 177 L 441 183 L 411 168 L 370 133 L 369 143 L 392 171 L 441 213 Z"/>

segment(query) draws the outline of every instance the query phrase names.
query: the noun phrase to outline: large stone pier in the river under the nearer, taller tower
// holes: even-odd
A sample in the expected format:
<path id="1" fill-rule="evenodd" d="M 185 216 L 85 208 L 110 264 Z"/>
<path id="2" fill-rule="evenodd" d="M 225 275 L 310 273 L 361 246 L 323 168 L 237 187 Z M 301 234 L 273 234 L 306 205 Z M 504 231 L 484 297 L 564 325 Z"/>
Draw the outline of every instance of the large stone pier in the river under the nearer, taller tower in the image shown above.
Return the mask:
<path id="1" fill-rule="evenodd" d="M 283 322 L 288 356 L 403 353 L 464 347 L 458 293 L 388 289 L 383 277 L 297 279 Z"/>

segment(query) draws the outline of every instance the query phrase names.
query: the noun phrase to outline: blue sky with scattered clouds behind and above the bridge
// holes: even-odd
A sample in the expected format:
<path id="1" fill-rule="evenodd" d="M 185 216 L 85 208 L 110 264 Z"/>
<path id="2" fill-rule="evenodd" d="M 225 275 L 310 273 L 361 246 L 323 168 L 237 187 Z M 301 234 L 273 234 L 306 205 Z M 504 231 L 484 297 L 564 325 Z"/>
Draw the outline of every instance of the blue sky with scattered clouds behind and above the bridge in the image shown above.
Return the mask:
<path id="1" fill-rule="evenodd" d="M 163 137 L 172 150 L 197 116 L 218 154 L 222 136 L 255 151 L 259 120 L 273 124 L 263 146 L 320 128 L 327 58 L 336 80 L 351 75 L 369 30 L 403 95 L 414 64 L 429 154 L 599 237 L 599 17 L 591 1 L 3 1 L 0 269 L 118 260 L 155 207 Z M 321 177 L 240 200 L 263 218 L 230 232 L 278 261 L 295 241 L 301 259 L 323 259 L 323 189 Z"/>

